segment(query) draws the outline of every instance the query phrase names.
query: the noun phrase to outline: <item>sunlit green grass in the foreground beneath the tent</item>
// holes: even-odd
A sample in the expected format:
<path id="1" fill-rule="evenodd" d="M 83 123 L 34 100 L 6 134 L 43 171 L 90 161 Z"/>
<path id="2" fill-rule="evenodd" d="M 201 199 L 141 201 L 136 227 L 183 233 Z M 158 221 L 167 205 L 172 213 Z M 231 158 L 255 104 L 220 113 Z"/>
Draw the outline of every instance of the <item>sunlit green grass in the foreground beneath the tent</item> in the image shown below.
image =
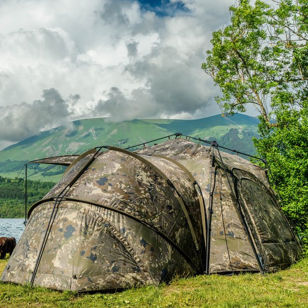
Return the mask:
<path id="1" fill-rule="evenodd" d="M 7 261 L 0 260 L 0 272 Z M 0 307 L 308 307 L 308 257 L 274 274 L 200 275 L 168 285 L 77 294 L 0 282 Z"/>

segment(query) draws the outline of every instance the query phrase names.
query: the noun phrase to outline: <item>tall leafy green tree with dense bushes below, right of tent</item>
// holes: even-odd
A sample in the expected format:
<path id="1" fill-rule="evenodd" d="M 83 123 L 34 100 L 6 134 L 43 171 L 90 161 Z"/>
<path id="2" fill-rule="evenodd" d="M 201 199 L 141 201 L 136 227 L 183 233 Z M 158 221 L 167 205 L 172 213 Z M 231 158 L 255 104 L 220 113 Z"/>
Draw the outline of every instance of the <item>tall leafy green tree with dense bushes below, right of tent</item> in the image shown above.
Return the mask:
<path id="1" fill-rule="evenodd" d="M 221 89 L 222 112 L 260 114 L 257 151 L 281 206 L 308 239 L 308 2 L 240 0 L 213 33 L 203 70 Z"/>

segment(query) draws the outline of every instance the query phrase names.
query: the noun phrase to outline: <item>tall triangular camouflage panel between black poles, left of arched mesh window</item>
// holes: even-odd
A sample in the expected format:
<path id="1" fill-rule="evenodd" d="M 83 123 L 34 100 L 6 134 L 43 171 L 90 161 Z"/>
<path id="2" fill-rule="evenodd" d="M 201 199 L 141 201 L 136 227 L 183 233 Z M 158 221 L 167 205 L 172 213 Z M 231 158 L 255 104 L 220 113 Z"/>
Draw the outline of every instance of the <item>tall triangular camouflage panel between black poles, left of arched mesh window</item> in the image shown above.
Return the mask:
<path id="1" fill-rule="evenodd" d="M 255 253 L 230 196 L 226 175 L 214 181 L 209 273 L 260 271 Z"/>

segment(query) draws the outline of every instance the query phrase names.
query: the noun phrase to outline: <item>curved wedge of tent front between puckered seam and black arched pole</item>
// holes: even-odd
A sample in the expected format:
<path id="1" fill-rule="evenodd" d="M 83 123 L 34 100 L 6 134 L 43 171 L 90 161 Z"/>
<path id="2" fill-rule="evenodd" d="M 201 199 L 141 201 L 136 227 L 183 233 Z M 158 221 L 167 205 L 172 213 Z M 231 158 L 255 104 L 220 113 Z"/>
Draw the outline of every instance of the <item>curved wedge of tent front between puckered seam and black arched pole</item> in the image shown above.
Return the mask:
<path id="1" fill-rule="evenodd" d="M 149 275 L 148 284 L 159 284 L 169 281 L 175 275 L 194 275 L 196 270 L 187 260 L 149 227 L 117 211 L 86 204 L 65 202 L 70 208 L 103 220 L 112 226 L 112 234 L 125 243 L 127 251 L 133 256 L 141 270 Z M 182 237 L 180 230 L 178 236 Z M 183 235 L 184 236 L 184 235 Z"/>

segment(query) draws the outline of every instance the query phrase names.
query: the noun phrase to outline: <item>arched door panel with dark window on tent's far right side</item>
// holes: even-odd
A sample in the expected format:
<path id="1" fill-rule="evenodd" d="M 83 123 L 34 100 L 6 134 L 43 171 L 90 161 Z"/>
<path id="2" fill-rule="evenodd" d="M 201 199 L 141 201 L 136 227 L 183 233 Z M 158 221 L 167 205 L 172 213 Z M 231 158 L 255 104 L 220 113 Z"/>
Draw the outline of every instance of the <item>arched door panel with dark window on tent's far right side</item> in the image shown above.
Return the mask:
<path id="1" fill-rule="evenodd" d="M 240 206 L 265 271 L 289 263 L 288 250 L 296 242 L 275 196 L 255 176 L 234 170 Z"/>

